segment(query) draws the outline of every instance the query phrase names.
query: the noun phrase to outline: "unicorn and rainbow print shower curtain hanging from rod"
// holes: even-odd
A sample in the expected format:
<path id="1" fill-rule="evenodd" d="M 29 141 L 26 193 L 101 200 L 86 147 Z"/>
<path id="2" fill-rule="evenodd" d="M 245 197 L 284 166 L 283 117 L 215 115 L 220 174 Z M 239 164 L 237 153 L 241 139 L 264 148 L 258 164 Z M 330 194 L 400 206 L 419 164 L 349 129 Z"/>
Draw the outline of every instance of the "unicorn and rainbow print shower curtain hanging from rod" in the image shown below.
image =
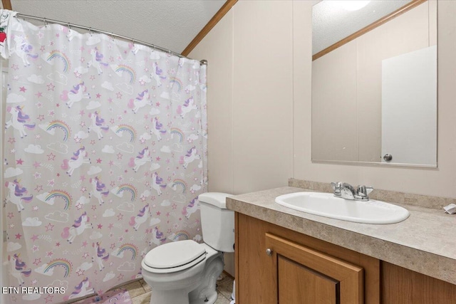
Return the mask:
<path id="1" fill-rule="evenodd" d="M 202 241 L 205 65 L 12 15 L 1 11 L 2 254 L 9 286 L 38 289 L 11 302 L 100 294 L 140 278 L 151 248 Z"/>

